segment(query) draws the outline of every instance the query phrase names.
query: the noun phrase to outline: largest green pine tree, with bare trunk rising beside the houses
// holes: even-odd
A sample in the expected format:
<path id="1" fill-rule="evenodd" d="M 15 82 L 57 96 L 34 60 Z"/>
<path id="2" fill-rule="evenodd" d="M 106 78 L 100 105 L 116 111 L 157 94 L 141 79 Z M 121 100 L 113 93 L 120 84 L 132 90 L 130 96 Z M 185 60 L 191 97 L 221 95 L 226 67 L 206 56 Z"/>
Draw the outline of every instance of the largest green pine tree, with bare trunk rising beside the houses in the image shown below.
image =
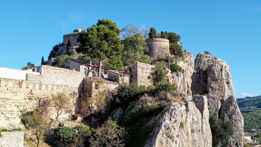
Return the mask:
<path id="1" fill-rule="evenodd" d="M 91 58 L 99 58 L 99 77 L 103 61 L 107 61 L 108 68 L 112 70 L 117 70 L 122 66 L 123 45 L 120 44 L 119 33 L 116 23 L 109 19 L 99 19 L 96 26 L 89 26 L 87 30 L 79 33 L 77 40 L 81 45 L 76 48 L 76 51 Z"/>

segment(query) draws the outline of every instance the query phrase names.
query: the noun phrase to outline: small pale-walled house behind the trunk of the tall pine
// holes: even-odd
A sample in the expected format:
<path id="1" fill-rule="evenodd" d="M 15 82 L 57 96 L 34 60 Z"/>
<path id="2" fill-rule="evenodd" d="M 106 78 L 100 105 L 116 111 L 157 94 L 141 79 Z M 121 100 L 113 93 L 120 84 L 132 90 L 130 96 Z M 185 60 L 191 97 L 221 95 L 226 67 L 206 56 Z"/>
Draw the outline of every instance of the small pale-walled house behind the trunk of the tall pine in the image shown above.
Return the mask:
<path id="1" fill-rule="evenodd" d="M 67 59 L 67 69 L 84 72 L 87 77 L 98 77 L 98 66 L 90 62 L 75 59 Z M 102 68 L 103 78 L 108 77 L 108 70 Z"/>

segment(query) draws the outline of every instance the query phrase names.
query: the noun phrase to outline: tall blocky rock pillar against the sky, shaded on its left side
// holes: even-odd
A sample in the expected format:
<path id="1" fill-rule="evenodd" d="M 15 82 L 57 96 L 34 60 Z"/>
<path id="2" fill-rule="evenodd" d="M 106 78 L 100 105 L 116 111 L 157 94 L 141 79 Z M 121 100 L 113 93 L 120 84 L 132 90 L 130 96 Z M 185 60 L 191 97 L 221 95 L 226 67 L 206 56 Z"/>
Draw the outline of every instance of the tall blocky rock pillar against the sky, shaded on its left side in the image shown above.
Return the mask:
<path id="1" fill-rule="evenodd" d="M 218 58 L 198 54 L 191 78 L 193 95 L 209 95 L 209 110 L 218 111 L 224 100 L 234 95 L 229 66 Z"/>

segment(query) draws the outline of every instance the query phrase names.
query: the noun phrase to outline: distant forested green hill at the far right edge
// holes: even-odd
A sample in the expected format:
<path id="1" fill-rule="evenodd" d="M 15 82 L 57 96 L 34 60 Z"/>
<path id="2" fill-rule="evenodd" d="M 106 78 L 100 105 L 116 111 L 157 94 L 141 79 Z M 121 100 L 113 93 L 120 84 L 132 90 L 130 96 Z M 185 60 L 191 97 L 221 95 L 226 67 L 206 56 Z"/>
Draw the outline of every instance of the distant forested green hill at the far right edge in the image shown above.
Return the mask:
<path id="1" fill-rule="evenodd" d="M 244 130 L 250 131 L 261 127 L 261 96 L 237 99 L 244 117 Z"/>

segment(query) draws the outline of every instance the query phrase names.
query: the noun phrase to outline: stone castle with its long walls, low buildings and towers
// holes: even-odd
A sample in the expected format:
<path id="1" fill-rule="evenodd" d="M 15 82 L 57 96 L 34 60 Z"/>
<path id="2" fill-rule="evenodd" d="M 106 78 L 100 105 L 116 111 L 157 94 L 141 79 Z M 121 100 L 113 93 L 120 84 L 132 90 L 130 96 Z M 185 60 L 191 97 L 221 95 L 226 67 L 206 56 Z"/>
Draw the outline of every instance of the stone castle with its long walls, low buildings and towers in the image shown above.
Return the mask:
<path id="1" fill-rule="evenodd" d="M 75 48 L 79 47 L 79 42 L 77 42 L 79 32 L 81 29 L 76 29 L 73 33 L 63 36 L 64 44 L 70 40 L 69 51 L 71 53 L 76 53 Z M 147 39 L 146 42 L 151 57 L 168 55 L 169 42 L 167 39 L 153 38 Z M 154 65 L 137 62 L 134 70 L 128 74 L 109 70 L 108 79 L 103 79 L 104 85 L 108 90 L 115 89 L 118 84 L 131 81 L 149 86 L 153 84 L 154 69 Z M 21 110 L 41 107 L 50 99 L 51 94 L 61 91 L 71 97 L 71 108 L 73 108 L 71 114 L 85 115 L 84 113 L 88 113 L 86 108 L 89 107 L 89 104 L 80 96 L 82 94 L 92 96 L 97 79 L 100 78 L 86 77 L 83 72 L 44 65 L 40 66 L 37 72 L 0 67 L 0 128 L 22 127 L 19 119 Z M 46 111 L 49 113 L 50 119 L 55 116 L 51 107 Z M 71 114 L 63 114 L 61 117 L 68 118 Z"/>

